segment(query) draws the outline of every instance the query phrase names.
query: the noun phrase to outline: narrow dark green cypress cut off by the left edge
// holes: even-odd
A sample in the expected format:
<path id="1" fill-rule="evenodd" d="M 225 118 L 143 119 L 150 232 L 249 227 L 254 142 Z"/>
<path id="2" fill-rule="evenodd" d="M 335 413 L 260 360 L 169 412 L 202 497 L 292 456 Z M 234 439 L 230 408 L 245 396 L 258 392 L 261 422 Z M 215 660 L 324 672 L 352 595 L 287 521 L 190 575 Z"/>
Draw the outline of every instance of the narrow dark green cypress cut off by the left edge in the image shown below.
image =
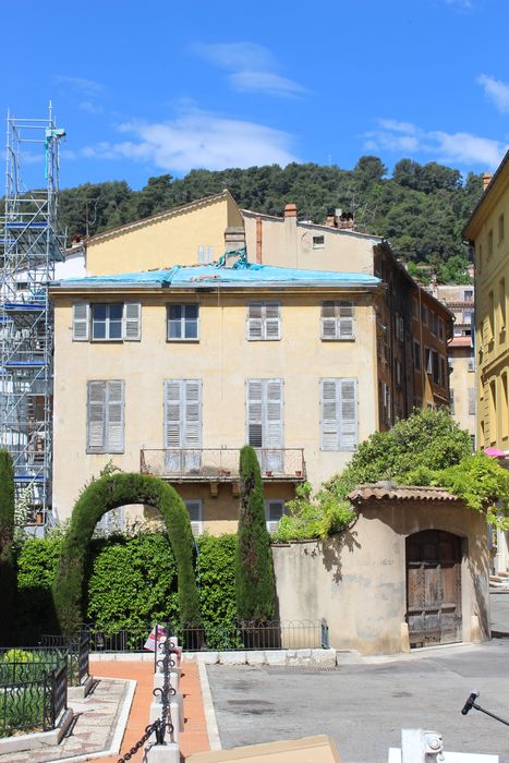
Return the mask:
<path id="1" fill-rule="evenodd" d="M 11 455 L 0 450 L 0 643 L 7 643 L 14 619 L 14 468 Z"/>

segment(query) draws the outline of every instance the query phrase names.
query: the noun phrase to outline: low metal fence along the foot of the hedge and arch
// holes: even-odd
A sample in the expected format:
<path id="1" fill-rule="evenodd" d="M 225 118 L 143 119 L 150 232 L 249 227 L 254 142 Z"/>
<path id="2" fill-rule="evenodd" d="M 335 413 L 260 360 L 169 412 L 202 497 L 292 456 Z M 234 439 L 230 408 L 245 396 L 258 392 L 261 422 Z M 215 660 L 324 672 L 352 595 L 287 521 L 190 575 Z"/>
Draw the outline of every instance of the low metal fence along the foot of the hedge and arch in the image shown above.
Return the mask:
<path id="1" fill-rule="evenodd" d="M 90 638 L 90 652 L 143 652 L 153 625 L 119 629 L 111 633 L 94 623 L 83 626 Z M 177 626 L 174 635 L 186 652 L 328 649 L 326 620 L 270 620 Z"/>

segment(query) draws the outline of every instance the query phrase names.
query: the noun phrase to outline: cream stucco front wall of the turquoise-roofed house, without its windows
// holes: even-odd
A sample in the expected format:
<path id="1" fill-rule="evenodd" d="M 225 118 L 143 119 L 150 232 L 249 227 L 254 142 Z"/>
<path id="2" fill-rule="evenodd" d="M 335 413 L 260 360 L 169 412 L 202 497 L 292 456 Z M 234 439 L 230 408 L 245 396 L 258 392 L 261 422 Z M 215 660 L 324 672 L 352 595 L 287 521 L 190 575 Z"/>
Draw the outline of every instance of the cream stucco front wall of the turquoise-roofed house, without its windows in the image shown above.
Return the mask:
<path id="1" fill-rule="evenodd" d="M 323 377 L 356 377 L 359 440 L 376 429 L 372 295 L 354 296 L 356 339 L 347 342 L 319 339 L 320 302 L 331 299 L 324 292 L 281 294 L 282 339 L 247 341 L 245 318 L 250 296 L 202 294 L 199 342 L 179 343 L 166 341 L 169 296 L 160 293 L 144 295 L 142 340 L 122 343 L 73 341 L 74 300 L 71 295 L 53 295 L 53 505 L 60 519 L 70 516 L 80 489 L 97 476 L 109 460 L 124 471 L 138 471 L 142 448 L 163 447 L 163 382 L 170 378 L 203 379 L 204 448 L 241 448 L 245 444 L 246 379 L 284 379 L 284 447 L 304 448 L 307 474 L 315 486 L 341 471 L 351 458 L 350 452 L 320 451 L 319 380 Z M 81 299 L 84 299 L 83 294 Z M 111 301 L 105 295 L 99 299 Z M 121 296 L 116 299 L 122 300 Z M 182 295 L 172 295 L 171 299 L 182 302 L 197 298 L 187 295 L 184 300 Z M 263 299 L 263 295 L 258 294 L 257 299 Z M 86 453 L 86 392 L 87 380 L 92 379 L 125 382 L 125 447 L 122 455 Z M 211 506 L 219 511 L 220 501 L 211 501 Z M 221 521 L 233 520 L 225 518 Z M 231 524 L 215 526 L 218 531 L 232 528 Z"/>

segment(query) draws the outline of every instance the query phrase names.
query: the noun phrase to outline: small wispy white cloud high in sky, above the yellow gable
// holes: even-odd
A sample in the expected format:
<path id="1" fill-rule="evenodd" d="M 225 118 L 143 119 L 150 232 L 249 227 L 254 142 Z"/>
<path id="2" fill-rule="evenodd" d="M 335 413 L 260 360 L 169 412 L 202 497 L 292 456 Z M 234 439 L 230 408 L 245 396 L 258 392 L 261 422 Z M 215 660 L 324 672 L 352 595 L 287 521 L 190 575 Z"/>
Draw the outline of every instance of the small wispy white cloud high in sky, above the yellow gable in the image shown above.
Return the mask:
<path id="1" fill-rule="evenodd" d="M 298 82 L 277 74 L 277 61 L 267 48 L 256 43 L 215 43 L 195 45 L 193 50 L 207 61 L 231 72 L 228 82 L 238 93 L 263 93 L 277 97 L 296 97 L 306 93 Z"/>

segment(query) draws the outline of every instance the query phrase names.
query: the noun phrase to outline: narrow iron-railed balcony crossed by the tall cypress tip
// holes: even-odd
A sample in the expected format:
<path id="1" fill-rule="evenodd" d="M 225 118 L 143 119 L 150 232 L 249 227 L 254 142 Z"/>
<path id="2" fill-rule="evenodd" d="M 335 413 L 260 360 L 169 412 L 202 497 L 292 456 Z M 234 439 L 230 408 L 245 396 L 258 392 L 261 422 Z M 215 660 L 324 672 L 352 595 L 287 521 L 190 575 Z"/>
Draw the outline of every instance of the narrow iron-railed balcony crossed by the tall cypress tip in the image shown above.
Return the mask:
<path id="1" fill-rule="evenodd" d="M 256 449 L 264 482 L 304 482 L 303 448 Z M 238 482 L 240 448 L 140 451 L 140 471 L 171 482 Z"/>

